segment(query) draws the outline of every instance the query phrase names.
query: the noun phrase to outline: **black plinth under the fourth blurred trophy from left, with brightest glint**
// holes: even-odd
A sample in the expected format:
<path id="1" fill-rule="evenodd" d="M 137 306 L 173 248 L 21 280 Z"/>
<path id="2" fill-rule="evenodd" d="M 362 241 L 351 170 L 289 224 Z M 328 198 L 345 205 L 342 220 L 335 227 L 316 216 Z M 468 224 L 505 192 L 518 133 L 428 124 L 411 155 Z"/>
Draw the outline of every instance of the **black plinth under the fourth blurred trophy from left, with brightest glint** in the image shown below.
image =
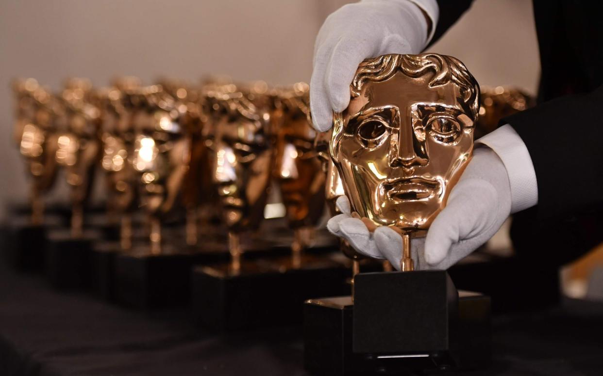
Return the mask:
<path id="1" fill-rule="evenodd" d="M 115 299 L 137 309 L 183 306 L 191 297 L 191 268 L 203 256 L 186 247 L 164 247 L 152 254 L 148 246 L 115 255 Z"/>

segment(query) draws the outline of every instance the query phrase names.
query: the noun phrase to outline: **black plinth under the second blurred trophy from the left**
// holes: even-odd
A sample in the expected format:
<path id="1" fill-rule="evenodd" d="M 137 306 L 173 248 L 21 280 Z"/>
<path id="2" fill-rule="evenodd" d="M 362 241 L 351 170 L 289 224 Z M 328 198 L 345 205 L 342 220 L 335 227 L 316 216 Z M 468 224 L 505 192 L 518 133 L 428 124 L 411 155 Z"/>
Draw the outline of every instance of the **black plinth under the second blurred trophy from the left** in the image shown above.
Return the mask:
<path id="1" fill-rule="evenodd" d="M 90 286 L 90 251 L 98 233 L 85 231 L 72 236 L 69 230 L 48 233 L 45 249 L 46 277 L 57 289 L 87 289 Z"/>

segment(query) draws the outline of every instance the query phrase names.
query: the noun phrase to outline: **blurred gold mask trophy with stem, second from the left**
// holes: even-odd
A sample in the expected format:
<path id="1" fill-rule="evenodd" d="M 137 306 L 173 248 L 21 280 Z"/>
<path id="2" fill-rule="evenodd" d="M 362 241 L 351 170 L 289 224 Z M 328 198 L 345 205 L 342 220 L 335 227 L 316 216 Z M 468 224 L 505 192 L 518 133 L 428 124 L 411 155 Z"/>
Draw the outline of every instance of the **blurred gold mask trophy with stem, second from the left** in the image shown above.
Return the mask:
<path id="1" fill-rule="evenodd" d="M 55 158 L 65 168 L 67 183 L 71 186 L 71 233 L 72 236 L 81 236 L 84 205 L 90 196 L 101 152 L 98 134 L 100 110 L 93 104 L 92 83 L 87 79 L 69 79 L 61 97 L 65 114 L 62 131 L 57 137 Z"/>

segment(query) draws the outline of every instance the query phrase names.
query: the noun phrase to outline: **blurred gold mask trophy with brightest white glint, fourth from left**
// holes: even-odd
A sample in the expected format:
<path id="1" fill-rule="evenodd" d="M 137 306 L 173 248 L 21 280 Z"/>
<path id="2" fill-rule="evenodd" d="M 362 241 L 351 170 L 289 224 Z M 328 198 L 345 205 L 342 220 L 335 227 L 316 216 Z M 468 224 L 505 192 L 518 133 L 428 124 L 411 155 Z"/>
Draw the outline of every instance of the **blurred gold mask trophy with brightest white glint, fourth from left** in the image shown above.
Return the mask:
<path id="1" fill-rule="evenodd" d="M 132 165 L 139 178 L 140 202 L 150 218 L 151 253 L 162 251 L 161 218 L 174 207 L 188 170 L 189 135 L 178 123 L 182 112 L 160 85 L 144 87 L 132 122 Z"/>

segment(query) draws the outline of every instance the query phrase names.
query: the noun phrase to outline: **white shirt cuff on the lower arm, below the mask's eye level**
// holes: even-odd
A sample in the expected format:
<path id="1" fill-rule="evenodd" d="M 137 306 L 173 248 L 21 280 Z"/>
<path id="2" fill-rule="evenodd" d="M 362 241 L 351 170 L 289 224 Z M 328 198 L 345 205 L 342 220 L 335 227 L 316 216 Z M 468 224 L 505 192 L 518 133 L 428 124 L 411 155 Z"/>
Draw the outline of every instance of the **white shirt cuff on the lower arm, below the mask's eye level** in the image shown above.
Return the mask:
<path id="1" fill-rule="evenodd" d="M 490 147 L 507 168 L 511 185 L 511 213 L 538 203 L 536 172 L 528 148 L 515 129 L 504 125 L 476 141 Z"/>

